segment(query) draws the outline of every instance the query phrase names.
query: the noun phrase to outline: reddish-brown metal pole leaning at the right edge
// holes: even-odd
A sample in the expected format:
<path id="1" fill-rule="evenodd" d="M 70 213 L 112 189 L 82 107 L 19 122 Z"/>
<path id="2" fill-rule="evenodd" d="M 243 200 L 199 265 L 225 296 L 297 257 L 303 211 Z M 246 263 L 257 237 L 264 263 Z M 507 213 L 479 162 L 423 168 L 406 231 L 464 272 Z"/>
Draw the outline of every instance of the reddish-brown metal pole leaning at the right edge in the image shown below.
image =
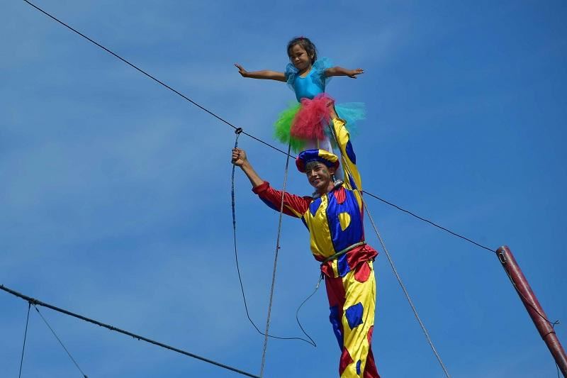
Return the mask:
<path id="1" fill-rule="evenodd" d="M 517 265 L 516 259 L 514 258 L 514 255 L 512 255 L 512 251 L 504 245 L 503 247 L 498 248 L 496 253 L 498 255 L 498 260 L 500 260 L 500 264 L 502 264 L 508 277 L 510 277 L 510 281 L 520 296 L 520 300 L 522 300 L 529 316 L 532 318 L 539 335 L 541 335 L 541 338 L 544 339 L 551 355 L 554 356 L 554 360 L 559 369 L 561 369 L 563 377 L 567 377 L 567 355 L 565 354 L 565 350 L 563 350 L 561 343 L 559 343 L 555 330 L 551 326 L 551 322 L 547 319 L 544 309 L 541 308 L 539 301 L 537 301 L 534 291 L 532 291 L 532 288 L 529 287 L 527 279 L 522 273 L 522 269 L 520 269 L 520 266 Z"/>

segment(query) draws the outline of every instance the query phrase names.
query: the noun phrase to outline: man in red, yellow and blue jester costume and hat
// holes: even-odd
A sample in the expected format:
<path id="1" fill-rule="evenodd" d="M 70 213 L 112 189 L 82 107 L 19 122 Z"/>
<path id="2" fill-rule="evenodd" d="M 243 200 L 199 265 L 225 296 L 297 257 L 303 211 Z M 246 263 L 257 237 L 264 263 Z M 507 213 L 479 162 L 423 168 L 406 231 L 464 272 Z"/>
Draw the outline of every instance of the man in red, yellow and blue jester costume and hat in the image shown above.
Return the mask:
<path id="1" fill-rule="evenodd" d="M 372 354 L 376 306 L 373 262 L 378 252 L 364 243 L 361 177 L 344 121 L 336 113 L 331 127 L 342 154 L 344 182 L 335 181 L 339 157 L 325 150 L 305 150 L 296 160 L 315 188 L 313 196 L 283 195 L 283 213 L 301 218 L 309 230 L 311 252 L 321 262 L 330 306 L 330 322 L 337 337 L 342 378 L 379 378 Z M 270 187 L 254 171 L 246 152 L 232 150 L 237 165 L 252 183 L 252 191 L 276 211 L 281 191 Z M 347 165 L 347 167 L 344 167 Z"/>

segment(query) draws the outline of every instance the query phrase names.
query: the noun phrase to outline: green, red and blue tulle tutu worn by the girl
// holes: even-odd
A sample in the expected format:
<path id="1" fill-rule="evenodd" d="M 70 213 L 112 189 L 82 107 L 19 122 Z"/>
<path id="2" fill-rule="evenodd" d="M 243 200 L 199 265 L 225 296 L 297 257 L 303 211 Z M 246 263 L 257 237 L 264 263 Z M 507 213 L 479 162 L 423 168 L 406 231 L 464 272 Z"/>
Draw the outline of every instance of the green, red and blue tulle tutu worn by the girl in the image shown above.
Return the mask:
<path id="1" fill-rule="evenodd" d="M 291 144 L 294 152 L 301 152 L 310 141 L 335 140 L 330 135 L 331 121 L 329 104 L 335 101 L 325 93 L 310 99 L 301 99 L 301 104 L 293 103 L 279 114 L 274 124 L 274 137 L 283 144 Z M 357 121 L 366 118 L 364 104 L 360 102 L 336 104 L 339 118 L 347 123 L 349 133 L 356 134 Z"/>

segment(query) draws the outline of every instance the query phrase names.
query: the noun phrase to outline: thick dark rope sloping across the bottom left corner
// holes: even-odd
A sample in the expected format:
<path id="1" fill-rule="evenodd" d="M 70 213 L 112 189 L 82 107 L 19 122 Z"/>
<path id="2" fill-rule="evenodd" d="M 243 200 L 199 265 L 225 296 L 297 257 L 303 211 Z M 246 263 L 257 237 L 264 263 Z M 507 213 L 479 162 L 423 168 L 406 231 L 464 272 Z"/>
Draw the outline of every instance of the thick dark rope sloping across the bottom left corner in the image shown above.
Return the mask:
<path id="1" fill-rule="evenodd" d="M 211 365 L 215 365 L 215 366 L 218 366 L 218 367 L 223 367 L 224 369 L 231 370 L 232 372 L 237 372 L 237 373 L 242 374 L 242 375 L 245 375 L 245 376 L 247 376 L 247 377 L 260 378 L 258 375 L 250 374 L 250 373 L 245 372 L 245 371 L 242 371 L 242 370 L 240 370 L 240 369 L 236 369 L 235 367 L 230 367 L 230 366 L 228 366 L 228 365 L 221 364 L 220 362 L 215 362 L 215 361 L 213 361 L 213 360 L 209 360 L 208 358 L 201 357 L 201 356 L 195 355 L 195 354 L 190 353 L 190 352 L 186 352 L 185 350 L 181 350 L 181 349 L 178 349 L 178 348 L 174 348 L 174 347 L 169 346 L 169 345 L 164 344 L 164 343 L 159 343 L 158 341 L 152 340 L 152 339 L 150 339 L 150 338 L 145 338 L 144 336 L 136 335 L 135 333 L 128 332 L 127 330 L 122 330 L 122 329 L 120 329 L 120 328 L 116 328 L 116 327 L 114 327 L 114 326 L 110 326 L 110 325 L 108 325 L 108 324 L 101 323 L 101 322 L 96 321 L 96 320 L 94 320 L 94 319 L 87 318 L 86 316 L 82 316 L 82 315 L 79 315 L 79 314 L 77 314 L 77 313 L 72 313 L 71 311 L 67 311 L 67 310 L 65 310 L 64 308 L 55 307 L 55 306 L 53 306 L 53 305 L 51 305 L 51 304 L 47 304 L 47 303 L 45 303 L 45 302 L 42 302 L 42 301 L 40 301 L 40 300 L 38 300 L 38 299 L 33 299 L 33 298 L 31 298 L 30 296 L 26 296 L 26 295 L 24 295 L 24 294 L 18 293 L 18 291 L 14 291 L 14 290 L 12 290 L 12 289 L 9 289 L 8 287 L 5 287 L 4 285 L 0 285 L 0 290 L 4 290 L 4 291 L 6 291 L 7 293 L 12 294 L 13 296 L 18 296 L 18 298 L 25 299 L 26 301 L 30 302 L 33 306 L 43 306 L 43 307 L 51 308 L 51 309 L 54 310 L 54 311 L 57 311 L 57 312 L 60 312 L 60 313 L 64 313 L 65 315 L 72 316 L 72 317 L 77 318 L 77 319 L 80 319 L 80 320 L 82 320 L 82 321 L 86 321 L 86 322 L 89 322 L 89 323 L 93 323 L 93 324 L 95 324 L 96 326 L 101 326 L 101 327 L 106 328 L 106 329 L 108 329 L 108 330 L 113 330 L 113 331 L 115 331 L 115 332 L 122 333 L 123 335 L 128 335 L 128 336 L 130 336 L 130 337 L 132 337 L 132 338 L 135 338 L 135 339 L 137 339 L 137 340 L 145 341 L 146 343 L 150 343 L 150 344 L 153 344 L 153 345 L 157 345 L 157 346 L 160 347 L 160 348 L 164 348 L 164 349 L 167 349 L 167 350 L 172 350 L 173 352 L 180 353 L 181 355 L 186 355 L 186 356 L 188 356 L 188 357 L 195 358 L 196 360 L 201 360 L 201 361 L 203 361 L 203 362 L 208 362 L 208 363 L 211 364 Z"/>

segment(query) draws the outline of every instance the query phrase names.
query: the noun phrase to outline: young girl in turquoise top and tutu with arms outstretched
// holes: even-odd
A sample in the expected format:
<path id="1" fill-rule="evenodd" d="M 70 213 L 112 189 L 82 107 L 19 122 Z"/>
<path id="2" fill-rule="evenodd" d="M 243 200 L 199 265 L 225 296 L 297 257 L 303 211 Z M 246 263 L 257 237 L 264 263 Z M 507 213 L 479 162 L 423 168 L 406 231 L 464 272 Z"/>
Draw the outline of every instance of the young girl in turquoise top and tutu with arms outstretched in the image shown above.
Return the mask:
<path id="1" fill-rule="evenodd" d="M 287 82 L 296 92 L 299 104 L 293 104 L 281 112 L 274 125 L 276 138 L 281 143 L 290 143 L 295 152 L 313 148 L 332 152 L 327 126 L 331 121 L 330 109 L 335 101 L 325 94 L 325 84 L 333 76 L 348 76 L 356 79 L 357 75 L 364 73 L 364 70 L 332 67 L 326 57 L 318 60 L 317 48 L 309 38 L 305 37 L 293 38 L 289 41 L 288 57 L 291 63 L 287 65 L 286 72 L 270 70 L 247 72 L 241 65 L 235 64 L 235 66 L 242 77 Z M 364 104 L 361 103 L 337 104 L 335 110 L 340 118 L 347 121 L 351 131 L 354 123 L 364 118 Z"/>

